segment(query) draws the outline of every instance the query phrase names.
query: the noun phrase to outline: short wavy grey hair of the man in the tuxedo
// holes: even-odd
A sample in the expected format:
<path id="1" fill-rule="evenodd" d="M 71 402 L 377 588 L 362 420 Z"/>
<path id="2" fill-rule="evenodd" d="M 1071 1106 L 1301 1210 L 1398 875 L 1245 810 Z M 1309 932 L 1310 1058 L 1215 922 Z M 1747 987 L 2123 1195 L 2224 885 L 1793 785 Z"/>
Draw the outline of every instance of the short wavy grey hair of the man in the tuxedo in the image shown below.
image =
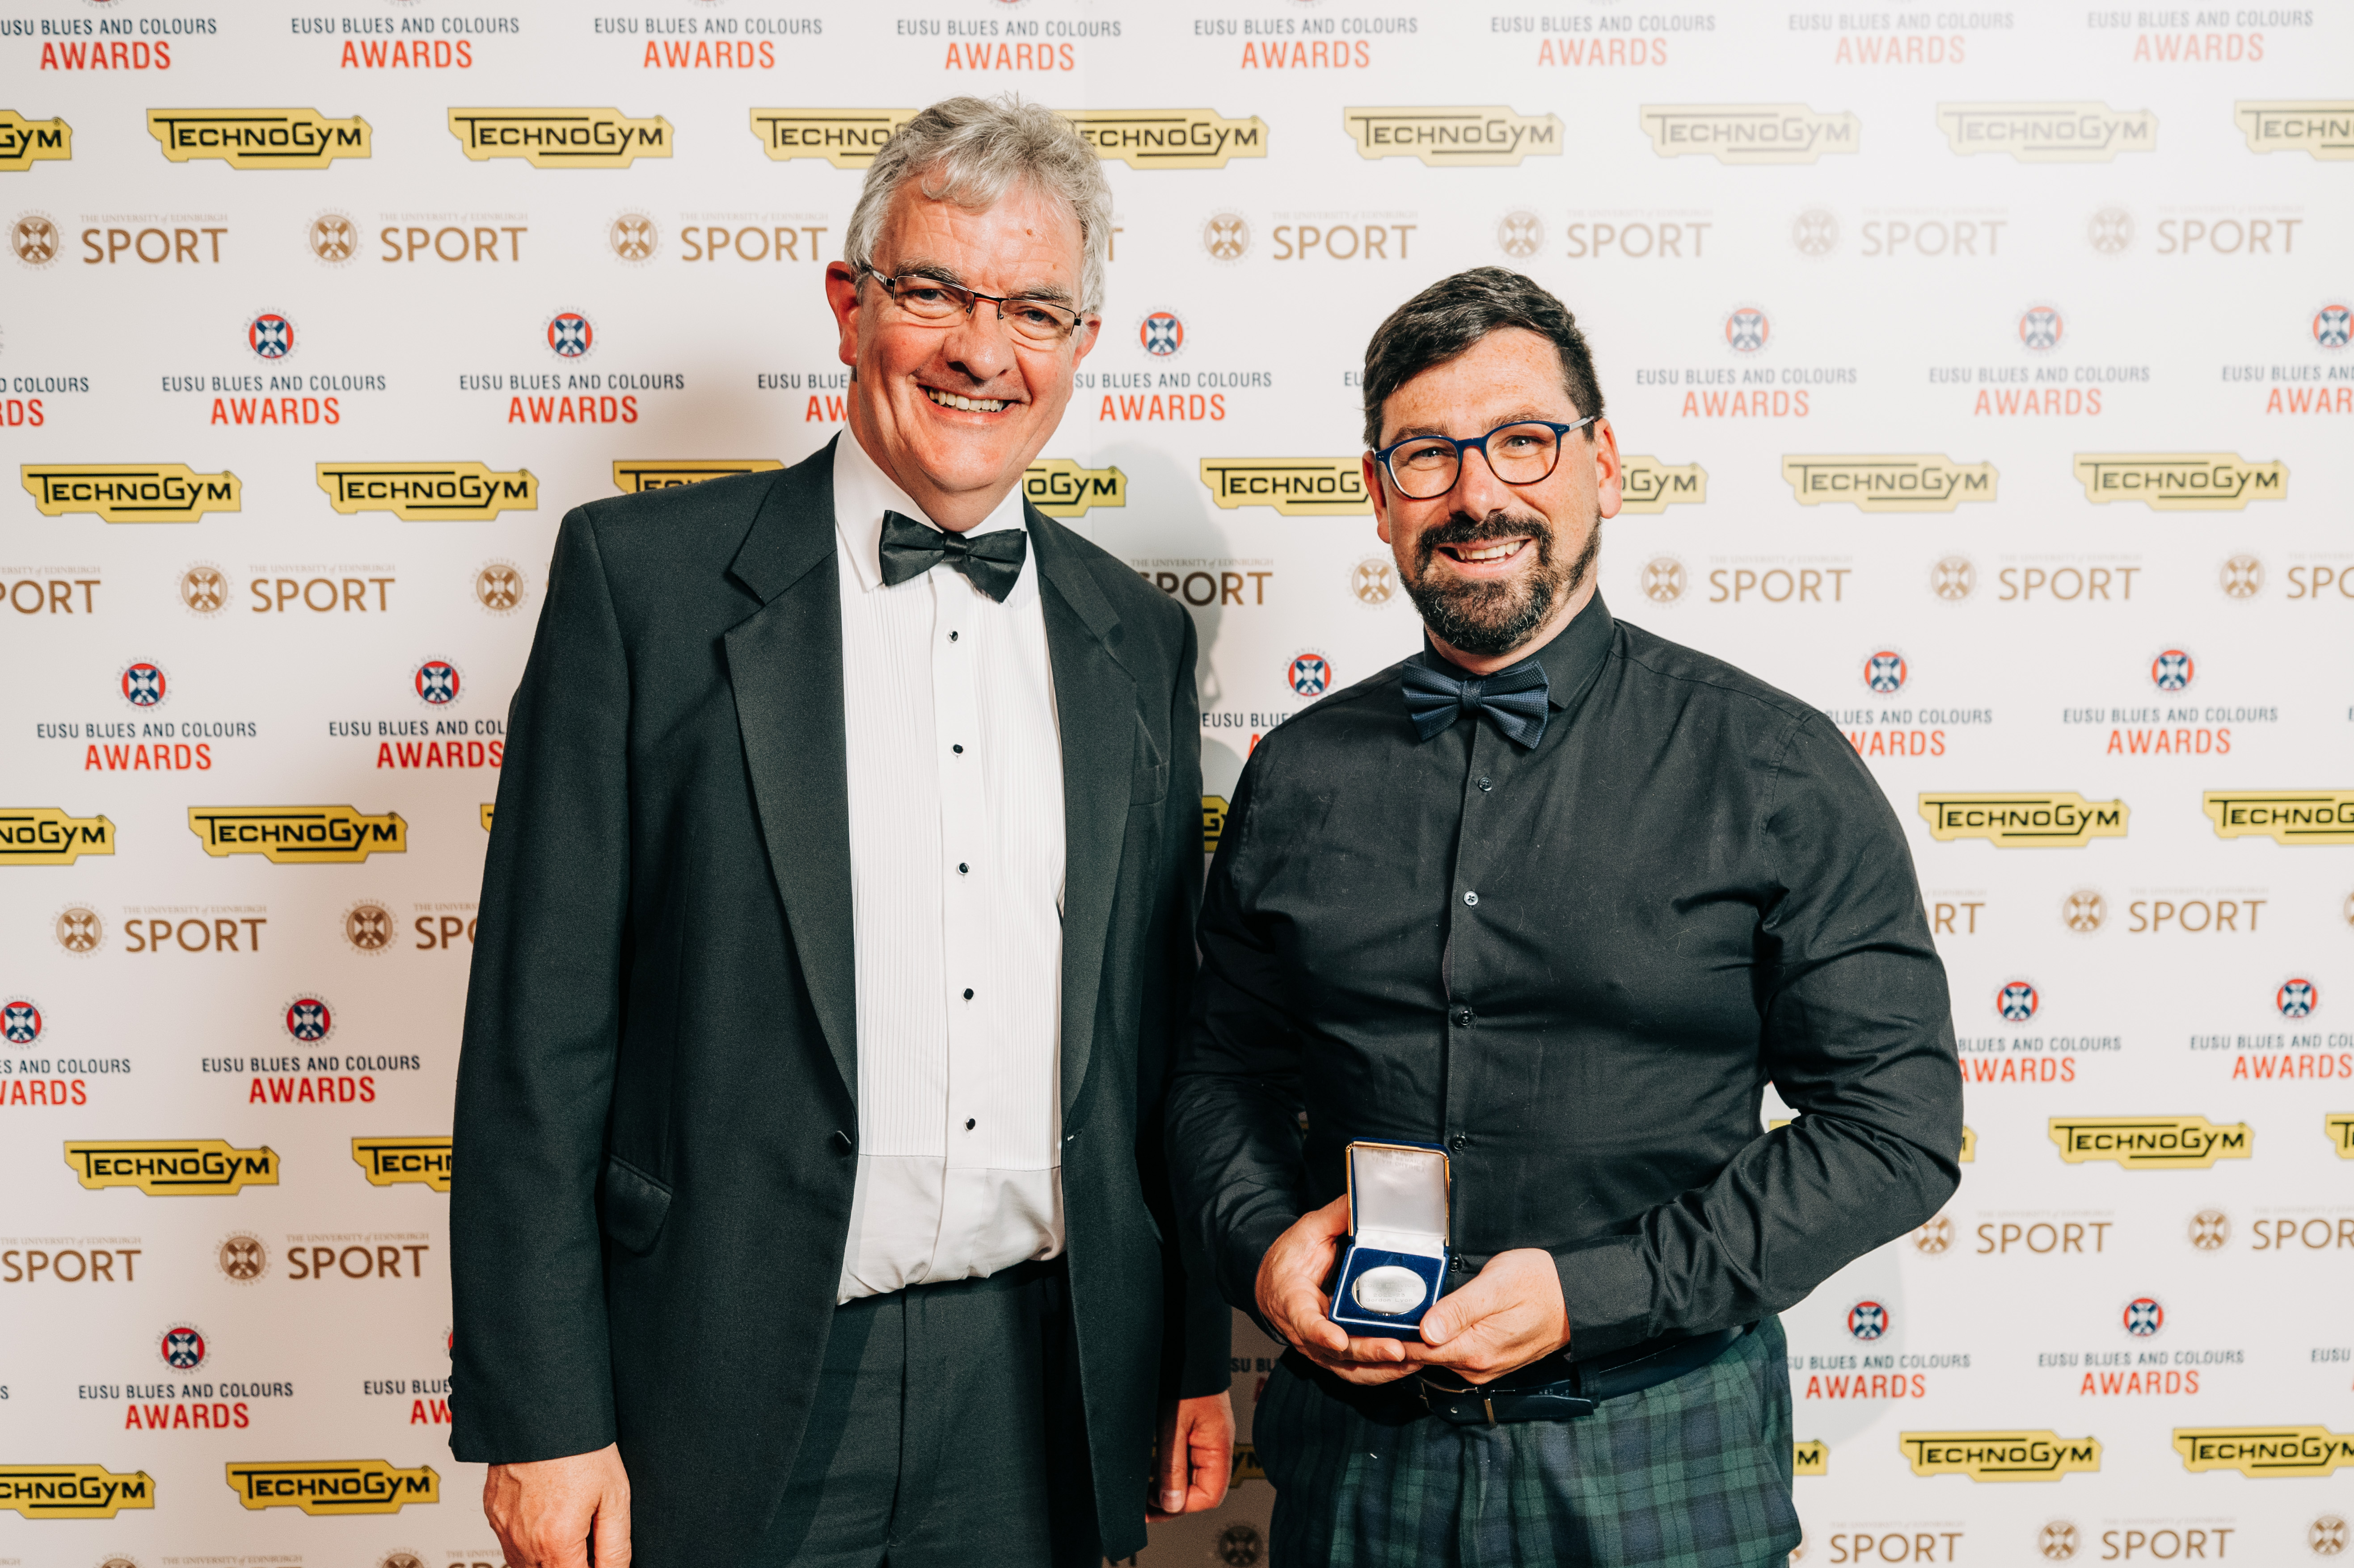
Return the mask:
<path id="1" fill-rule="evenodd" d="M 873 264 L 876 235 L 892 198 L 909 179 L 935 202 L 970 212 L 993 207 L 1022 184 L 1062 207 L 1078 224 L 1078 308 L 1104 308 L 1104 259 L 1111 252 L 1111 181 L 1078 127 L 1052 108 L 1000 99 L 942 99 L 906 122 L 866 170 L 859 205 L 850 210 L 843 261 Z"/>

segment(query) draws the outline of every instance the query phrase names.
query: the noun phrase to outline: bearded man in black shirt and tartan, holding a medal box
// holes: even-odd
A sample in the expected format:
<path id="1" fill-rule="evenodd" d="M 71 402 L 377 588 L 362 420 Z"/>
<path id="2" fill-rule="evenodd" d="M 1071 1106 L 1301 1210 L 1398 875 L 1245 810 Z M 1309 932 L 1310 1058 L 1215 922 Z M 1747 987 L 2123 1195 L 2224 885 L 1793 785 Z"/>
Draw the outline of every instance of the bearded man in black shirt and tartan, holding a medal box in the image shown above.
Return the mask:
<path id="1" fill-rule="evenodd" d="M 1252 751 L 1170 1092 L 1179 1212 L 1290 1344 L 1269 1561 L 1782 1563 L 1775 1314 L 1961 1175 L 1904 833 L 1822 713 L 1603 605 L 1622 464 L 1558 299 L 1445 278 L 1363 386 L 1424 650 Z M 1434 1283 L 1335 1302 L 1354 1142 L 1445 1154 Z"/>

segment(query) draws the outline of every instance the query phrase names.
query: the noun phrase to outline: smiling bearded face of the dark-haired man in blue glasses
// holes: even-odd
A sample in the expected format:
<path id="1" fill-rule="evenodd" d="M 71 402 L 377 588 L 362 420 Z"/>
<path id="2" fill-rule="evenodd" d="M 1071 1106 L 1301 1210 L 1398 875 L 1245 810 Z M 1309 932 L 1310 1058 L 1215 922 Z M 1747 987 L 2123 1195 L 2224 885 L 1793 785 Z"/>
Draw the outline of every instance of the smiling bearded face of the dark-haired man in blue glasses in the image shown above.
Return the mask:
<path id="1" fill-rule="evenodd" d="M 1382 403 L 1382 445 L 1408 436 L 1481 436 L 1516 419 L 1575 424 L 1561 353 L 1525 327 L 1499 327 L 1431 365 Z M 1620 454 L 1608 421 L 1563 438 L 1554 473 L 1507 485 L 1478 452 L 1441 497 L 1398 494 L 1365 454 L 1365 490 L 1398 577 L 1438 650 L 1474 673 L 1542 647 L 1594 598 L 1601 520 L 1620 509 Z"/>

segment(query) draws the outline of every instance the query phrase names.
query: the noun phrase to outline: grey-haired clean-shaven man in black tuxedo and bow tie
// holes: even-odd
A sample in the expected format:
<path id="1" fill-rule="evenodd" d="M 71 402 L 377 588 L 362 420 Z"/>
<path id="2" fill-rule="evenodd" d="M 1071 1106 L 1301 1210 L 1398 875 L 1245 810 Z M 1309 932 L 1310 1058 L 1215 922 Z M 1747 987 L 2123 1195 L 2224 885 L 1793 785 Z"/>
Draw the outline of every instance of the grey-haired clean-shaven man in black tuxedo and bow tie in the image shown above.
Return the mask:
<path id="1" fill-rule="evenodd" d="M 826 268 L 850 428 L 558 532 L 450 1217 L 516 1568 L 1076 1568 L 1224 1497 L 1193 622 L 1022 497 L 1109 238 L 1062 115 L 935 104 Z"/>

